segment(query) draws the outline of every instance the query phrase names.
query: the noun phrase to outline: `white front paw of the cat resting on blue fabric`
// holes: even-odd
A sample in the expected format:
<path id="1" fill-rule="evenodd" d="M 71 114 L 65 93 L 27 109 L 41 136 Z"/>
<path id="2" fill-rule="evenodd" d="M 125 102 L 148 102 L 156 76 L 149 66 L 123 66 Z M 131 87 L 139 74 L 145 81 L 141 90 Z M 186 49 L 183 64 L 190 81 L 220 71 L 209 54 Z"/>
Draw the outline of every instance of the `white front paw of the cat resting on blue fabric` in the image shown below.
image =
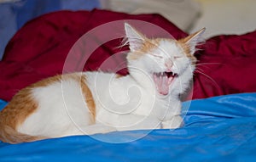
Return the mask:
<path id="1" fill-rule="evenodd" d="M 175 129 L 183 126 L 183 118 L 180 115 L 175 115 L 171 120 L 164 120 L 161 122 L 163 129 Z"/>

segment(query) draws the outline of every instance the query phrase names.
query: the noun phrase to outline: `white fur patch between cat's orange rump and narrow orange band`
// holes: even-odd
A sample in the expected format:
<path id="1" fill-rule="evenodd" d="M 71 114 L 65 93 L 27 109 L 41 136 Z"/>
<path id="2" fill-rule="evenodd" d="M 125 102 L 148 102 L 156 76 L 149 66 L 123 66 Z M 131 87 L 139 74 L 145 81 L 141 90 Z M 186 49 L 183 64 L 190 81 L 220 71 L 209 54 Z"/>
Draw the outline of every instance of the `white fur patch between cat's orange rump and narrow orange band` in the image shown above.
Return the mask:
<path id="1" fill-rule="evenodd" d="M 90 114 L 78 82 L 68 80 L 37 87 L 32 90 L 32 96 L 38 102 L 38 109 L 18 131 L 43 137 L 83 134 L 79 126 L 89 123 Z"/>

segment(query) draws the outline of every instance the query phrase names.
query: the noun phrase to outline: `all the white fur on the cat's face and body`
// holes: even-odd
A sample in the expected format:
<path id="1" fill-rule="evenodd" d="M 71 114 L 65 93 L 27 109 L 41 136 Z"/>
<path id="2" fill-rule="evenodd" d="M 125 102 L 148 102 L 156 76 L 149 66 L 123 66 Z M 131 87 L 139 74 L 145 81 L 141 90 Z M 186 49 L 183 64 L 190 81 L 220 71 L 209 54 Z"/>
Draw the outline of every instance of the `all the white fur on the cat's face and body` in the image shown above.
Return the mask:
<path id="1" fill-rule="evenodd" d="M 141 39 L 140 33 L 127 24 L 125 29 L 128 41 L 132 42 L 129 58 L 143 41 L 135 43 L 132 39 Z M 129 36 L 133 37 L 129 39 Z M 172 82 L 169 93 L 163 96 L 156 91 L 152 76 L 154 72 L 168 69 L 166 61 L 172 61 L 172 71 L 178 77 Z M 130 75 L 120 78 L 97 71 L 82 74 L 96 103 L 95 125 L 90 125 L 90 111 L 81 85 L 69 79 L 32 89 L 38 109 L 19 126 L 18 131 L 33 136 L 63 137 L 181 126 L 183 120 L 179 95 L 189 87 L 195 70 L 183 49 L 173 40 L 163 40 L 150 53 L 138 59 L 128 59 L 128 69 Z"/>

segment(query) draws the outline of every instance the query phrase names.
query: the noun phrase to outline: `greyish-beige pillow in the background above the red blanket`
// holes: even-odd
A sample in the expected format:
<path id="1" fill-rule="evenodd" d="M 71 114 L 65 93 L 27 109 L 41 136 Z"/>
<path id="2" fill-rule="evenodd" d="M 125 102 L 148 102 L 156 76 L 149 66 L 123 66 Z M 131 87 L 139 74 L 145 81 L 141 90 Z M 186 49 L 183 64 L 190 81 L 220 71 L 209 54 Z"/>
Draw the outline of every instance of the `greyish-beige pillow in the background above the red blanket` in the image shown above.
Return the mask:
<path id="1" fill-rule="evenodd" d="M 194 0 L 103 0 L 102 8 L 129 14 L 161 14 L 183 31 L 189 31 L 201 14 L 201 5 Z"/>

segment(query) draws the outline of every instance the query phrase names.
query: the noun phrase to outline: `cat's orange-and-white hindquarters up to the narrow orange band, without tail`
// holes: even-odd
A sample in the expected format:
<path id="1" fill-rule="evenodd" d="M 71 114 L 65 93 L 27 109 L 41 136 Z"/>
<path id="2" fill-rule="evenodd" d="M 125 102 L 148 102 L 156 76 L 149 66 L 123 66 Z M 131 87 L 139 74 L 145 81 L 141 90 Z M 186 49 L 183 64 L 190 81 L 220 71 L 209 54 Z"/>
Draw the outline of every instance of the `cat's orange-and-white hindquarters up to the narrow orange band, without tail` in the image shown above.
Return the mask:
<path id="1" fill-rule="evenodd" d="M 94 122 L 91 98 L 85 73 L 55 75 L 20 90 L 1 112 L 1 124 L 31 136 L 67 136 L 76 124 Z"/>

